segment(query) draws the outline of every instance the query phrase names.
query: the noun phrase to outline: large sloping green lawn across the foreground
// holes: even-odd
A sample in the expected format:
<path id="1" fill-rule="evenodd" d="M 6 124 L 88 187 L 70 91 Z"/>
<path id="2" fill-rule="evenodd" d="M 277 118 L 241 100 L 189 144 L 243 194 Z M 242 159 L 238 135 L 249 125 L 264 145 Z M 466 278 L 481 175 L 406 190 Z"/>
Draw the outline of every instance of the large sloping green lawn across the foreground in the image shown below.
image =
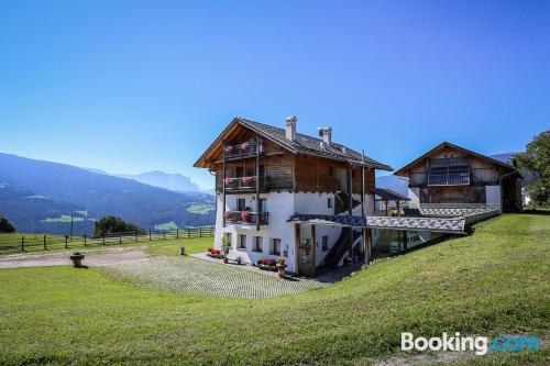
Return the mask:
<path id="1" fill-rule="evenodd" d="M 370 365 L 403 355 L 405 331 L 548 337 L 549 249 L 549 215 L 503 215 L 333 286 L 261 300 L 146 290 L 96 269 L 2 269 L 0 364 Z M 547 348 L 462 362 L 543 365 Z"/>

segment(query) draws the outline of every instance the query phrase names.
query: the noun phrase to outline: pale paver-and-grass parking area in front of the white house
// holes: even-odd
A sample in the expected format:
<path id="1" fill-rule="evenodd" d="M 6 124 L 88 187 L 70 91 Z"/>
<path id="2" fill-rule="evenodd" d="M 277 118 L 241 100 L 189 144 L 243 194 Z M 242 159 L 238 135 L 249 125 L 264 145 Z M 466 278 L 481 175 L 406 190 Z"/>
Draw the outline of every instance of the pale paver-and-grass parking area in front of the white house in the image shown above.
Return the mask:
<path id="1" fill-rule="evenodd" d="M 312 279 L 282 279 L 194 257 L 152 258 L 102 269 L 110 277 L 150 289 L 244 299 L 299 293 L 328 286 Z"/>

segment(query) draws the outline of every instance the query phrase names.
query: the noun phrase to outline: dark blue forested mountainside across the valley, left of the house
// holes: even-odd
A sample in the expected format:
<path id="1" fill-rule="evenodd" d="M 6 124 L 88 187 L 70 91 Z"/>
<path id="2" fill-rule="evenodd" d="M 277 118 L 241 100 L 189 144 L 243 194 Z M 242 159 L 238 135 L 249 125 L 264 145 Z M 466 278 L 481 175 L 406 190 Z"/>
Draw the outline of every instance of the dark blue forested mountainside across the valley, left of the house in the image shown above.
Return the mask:
<path id="1" fill-rule="evenodd" d="M 108 214 L 145 229 L 215 223 L 213 196 L 174 192 L 65 164 L 0 154 L 0 215 L 19 231 L 66 233 L 72 213 L 79 218 L 75 232 L 88 233 L 95 220 Z M 36 204 L 25 197 L 34 197 Z"/>

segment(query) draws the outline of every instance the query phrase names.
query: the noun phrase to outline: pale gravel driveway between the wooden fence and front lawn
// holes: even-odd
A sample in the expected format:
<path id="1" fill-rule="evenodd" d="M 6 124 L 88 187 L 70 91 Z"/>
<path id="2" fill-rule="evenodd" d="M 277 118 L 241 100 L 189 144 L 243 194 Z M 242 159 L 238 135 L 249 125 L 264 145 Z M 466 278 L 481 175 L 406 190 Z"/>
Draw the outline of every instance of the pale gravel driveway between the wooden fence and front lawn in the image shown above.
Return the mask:
<path id="1" fill-rule="evenodd" d="M 80 251 L 80 253 L 86 254 L 82 264 L 91 267 L 147 260 L 151 258 L 141 248 L 112 248 L 96 252 Z M 72 252 L 9 255 L 0 257 L 0 268 L 67 266 L 73 264 L 69 259 L 70 254 Z"/>

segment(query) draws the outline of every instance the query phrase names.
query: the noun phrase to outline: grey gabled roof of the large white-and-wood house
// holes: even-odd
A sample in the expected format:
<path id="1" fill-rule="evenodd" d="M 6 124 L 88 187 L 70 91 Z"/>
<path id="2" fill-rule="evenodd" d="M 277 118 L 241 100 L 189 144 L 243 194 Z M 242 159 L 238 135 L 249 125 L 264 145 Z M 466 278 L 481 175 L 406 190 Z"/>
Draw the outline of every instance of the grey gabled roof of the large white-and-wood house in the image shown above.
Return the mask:
<path id="1" fill-rule="evenodd" d="M 235 129 L 237 125 L 243 125 L 257 133 L 260 136 L 272 141 L 273 143 L 284 147 L 294 154 L 306 154 L 319 156 L 328 159 L 346 162 L 354 165 L 365 166 L 375 169 L 393 170 L 391 166 L 376 162 L 370 157 L 362 159 L 361 153 L 346 147 L 341 144 L 332 142 L 330 145 L 321 144 L 322 140 L 296 133 L 296 140 L 289 141 L 286 138 L 284 129 L 275 127 L 273 125 L 246 120 L 243 118 L 234 118 L 233 121 L 222 131 L 222 133 L 215 140 L 215 142 L 207 148 L 207 151 L 195 163 L 195 167 L 206 167 L 206 157 L 208 154 L 221 143 L 221 141 Z"/>

